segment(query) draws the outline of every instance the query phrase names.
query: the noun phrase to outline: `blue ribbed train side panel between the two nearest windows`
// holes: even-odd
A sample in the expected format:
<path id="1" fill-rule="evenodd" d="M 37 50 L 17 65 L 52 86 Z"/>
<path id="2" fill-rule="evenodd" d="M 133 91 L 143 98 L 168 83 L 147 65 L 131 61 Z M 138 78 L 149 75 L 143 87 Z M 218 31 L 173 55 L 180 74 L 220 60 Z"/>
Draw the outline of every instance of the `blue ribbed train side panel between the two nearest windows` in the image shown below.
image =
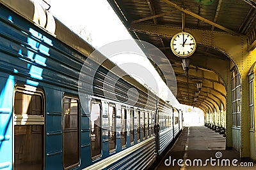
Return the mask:
<path id="1" fill-rule="evenodd" d="M 45 169 L 62 169 L 63 92 L 45 88 Z"/>

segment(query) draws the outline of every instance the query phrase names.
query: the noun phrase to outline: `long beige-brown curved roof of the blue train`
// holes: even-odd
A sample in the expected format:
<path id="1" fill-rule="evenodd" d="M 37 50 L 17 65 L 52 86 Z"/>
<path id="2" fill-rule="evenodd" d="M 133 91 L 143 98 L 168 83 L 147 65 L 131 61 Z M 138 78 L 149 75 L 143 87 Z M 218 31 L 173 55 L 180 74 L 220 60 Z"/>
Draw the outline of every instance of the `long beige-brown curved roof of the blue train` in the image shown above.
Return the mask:
<path id="1" fill-rule="evenodd" d="M 4 4 L 4 6 L 6 6 L 7 8 L 15 11 L 15 13 L 26 18 L 27 20 L 29 20 L 29 22 L 40 27 L 44 31 L 48 32 L 55 38 L 67 44 L 68 46 L 74 48 L 86 57 L 90 57 L 90 59 L 94 60 L 95 62 L 102 63 L 101 66 L 105 67 L 109 71 L 111 71 L 111 69 L 115 67 L 115 73 L 111 71 L 112 73 L 116 74 L 125 81 L 128 81 L 129 83 L 131 83 L 131 85 L 147 93 L 148 95 L 154 98 L 157 97 L 150 90 L 141 85 L 141 83 L 139 83 L 129 74 L 127 74 L 123 69 L 121 69 L 120 67 L 116 67 L 116 64 L 111 62 L 111 60 L 106 58 L 104 55 L 102 55 L 102 53 L 98 51 L 95 52 L 95 48 L 93 48 L 92 45 L 84 41 L 84 39 L 82 39 L 73 31 L 68 29 L 68 27 L 62 24 L 60 20 L 52 16 L 49 11 L 45 10 L 42 6 L 40 6 L 40 4 L 36 3 L 35 1 L 0 0 L 0 3 Z M 92 53 L 93 55 L 91 55 Z M 167 106 L 172 108 L 170 104 L 166 103 L 161 98 L 159 98 L 159 102 L 166 104 Z"/>

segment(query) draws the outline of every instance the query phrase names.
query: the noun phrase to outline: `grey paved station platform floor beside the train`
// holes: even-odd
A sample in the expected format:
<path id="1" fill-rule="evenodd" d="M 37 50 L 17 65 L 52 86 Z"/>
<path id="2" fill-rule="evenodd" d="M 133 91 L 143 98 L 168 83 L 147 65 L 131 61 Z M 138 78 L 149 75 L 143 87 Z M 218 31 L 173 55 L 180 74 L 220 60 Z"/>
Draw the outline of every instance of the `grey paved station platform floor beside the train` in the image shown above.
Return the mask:
<path id="1" fill-rule="evenodd" d="M 225 150 L 225 140 L 221 134 L 204 126 L 185 127 L 156 169 L 255 169 L 256 164 L 252 161 L 241 162 L 236 150 Z M 179 159 L 181 166 L 177 163 Z"/>

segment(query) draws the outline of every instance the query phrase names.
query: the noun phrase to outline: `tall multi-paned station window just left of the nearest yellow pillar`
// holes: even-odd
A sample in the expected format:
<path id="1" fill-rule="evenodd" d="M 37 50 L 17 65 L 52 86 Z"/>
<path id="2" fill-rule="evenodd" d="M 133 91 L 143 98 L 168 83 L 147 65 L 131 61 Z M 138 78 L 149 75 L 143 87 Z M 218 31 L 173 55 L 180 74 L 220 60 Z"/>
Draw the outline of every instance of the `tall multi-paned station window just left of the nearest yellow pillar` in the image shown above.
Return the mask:
<path id="1" fill-rule="evenodd" d="M 232 70 L 232 125 L 240 127 L 241 120 L 241 78 L 234 67 Z"/>

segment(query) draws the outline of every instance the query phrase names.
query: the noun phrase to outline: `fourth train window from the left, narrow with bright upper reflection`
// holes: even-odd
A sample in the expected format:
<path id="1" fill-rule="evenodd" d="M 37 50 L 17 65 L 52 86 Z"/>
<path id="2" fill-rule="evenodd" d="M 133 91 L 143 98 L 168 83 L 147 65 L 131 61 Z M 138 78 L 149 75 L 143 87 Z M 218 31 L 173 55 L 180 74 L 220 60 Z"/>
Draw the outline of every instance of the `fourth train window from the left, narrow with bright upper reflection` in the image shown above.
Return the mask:
<path id="1" fill-rule="evenodd" d="M 108 107 L 108 146 L 109 152 L 115 152 L 116 148 L 116 108 Z"/>

